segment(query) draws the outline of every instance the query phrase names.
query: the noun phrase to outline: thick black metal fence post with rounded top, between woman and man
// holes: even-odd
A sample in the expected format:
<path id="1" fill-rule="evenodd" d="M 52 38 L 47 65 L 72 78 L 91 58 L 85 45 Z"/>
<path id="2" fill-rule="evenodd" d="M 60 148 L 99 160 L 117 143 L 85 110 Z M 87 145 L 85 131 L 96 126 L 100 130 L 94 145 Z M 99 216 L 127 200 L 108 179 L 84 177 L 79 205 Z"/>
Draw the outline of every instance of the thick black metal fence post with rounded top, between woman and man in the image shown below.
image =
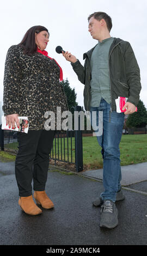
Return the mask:
<path id="1" fill-rule="evenodd" d="M 81 111 L 81 106 L 73 107 L 74 111 Z M 80 117 L 78 115 L 78 130 L 75 130 L 75 162 L 77 172 L 83 170 L 83 144 L 82 131 L 80 130 Z"/>

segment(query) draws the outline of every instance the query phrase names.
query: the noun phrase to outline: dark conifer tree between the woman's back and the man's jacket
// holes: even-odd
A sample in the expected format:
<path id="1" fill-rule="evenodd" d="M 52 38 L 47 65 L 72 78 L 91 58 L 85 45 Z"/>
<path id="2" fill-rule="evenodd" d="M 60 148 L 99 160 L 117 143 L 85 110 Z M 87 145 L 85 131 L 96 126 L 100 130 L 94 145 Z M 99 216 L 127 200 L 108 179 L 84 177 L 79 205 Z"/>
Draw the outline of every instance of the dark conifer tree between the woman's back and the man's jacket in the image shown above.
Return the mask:
<path id="1" fill-rule="evenodd" d="M 75 107 L 78 105 L 78 103 L 76 102 L 77 94 L 75 93 L 75 88 L 70 88 L 68 78 L 60 82 L 60 84 L 62 84 L 64 88 L 64 92 L 68 101 L 69 111 L 71 111 L 71 107 Z"/>

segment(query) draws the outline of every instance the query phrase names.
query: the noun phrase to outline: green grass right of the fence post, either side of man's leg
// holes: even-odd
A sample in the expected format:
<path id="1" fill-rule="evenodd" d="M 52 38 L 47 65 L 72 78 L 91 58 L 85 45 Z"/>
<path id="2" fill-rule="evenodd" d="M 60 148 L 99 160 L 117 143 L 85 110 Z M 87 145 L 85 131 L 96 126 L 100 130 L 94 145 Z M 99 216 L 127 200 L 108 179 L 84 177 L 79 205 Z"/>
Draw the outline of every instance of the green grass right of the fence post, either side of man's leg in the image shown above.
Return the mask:
<path id="1" fill-rule="evenodd" d="M 121 166 L 147 162 L 147 135 L 122 135 L 120 148 Z M 101 147 L 96 137 L 83 137 L 83 164 L 88 169 L 102 168 Z"/>

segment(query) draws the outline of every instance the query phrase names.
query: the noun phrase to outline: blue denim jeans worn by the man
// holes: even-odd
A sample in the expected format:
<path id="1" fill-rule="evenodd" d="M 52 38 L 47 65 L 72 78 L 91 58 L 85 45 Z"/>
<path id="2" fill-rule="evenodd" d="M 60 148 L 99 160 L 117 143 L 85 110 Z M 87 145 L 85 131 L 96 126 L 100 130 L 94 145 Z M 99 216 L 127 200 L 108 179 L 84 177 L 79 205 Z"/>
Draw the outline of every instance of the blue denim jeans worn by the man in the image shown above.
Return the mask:
<path id="1" fill-rule="evenodd" d="M 94 111 L 96 111 L 96 120 L 92 120 Z M 120 150 L 122 129 L 124 126 L 124 113 L 112 111 L 110 105 L 101 98 L 99 107 L 91 107 L 91 125 L 99 126 L 99 111 L 103 112 L 103 132 L 97 136 L 97 141 L 102 147 L 103 157 L 103 186 L 105 191 L 101 193 L 102 200 L 116 200 L 116 194 L 121 188 L 121 168 L 120 168 Z M 95 130 L 96 131 L 96 130 Z M 99 135 L 99 134 L 98 134 Z"/>

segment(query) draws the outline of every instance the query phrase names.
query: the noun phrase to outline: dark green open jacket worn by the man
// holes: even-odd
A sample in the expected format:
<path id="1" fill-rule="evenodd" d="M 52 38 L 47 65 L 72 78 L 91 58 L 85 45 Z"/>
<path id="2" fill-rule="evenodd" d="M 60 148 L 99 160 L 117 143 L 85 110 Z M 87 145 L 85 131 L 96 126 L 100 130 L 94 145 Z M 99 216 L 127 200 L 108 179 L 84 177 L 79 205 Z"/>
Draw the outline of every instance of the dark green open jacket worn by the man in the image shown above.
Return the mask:
<path id="1" fill-rule="evenodd" d="M 78 76 L 78 80 L 85 84 L 84 107 L 86 111 L 90 110 L 90 58 L 94 48 L 83 54 L 83 59 L 85 59 L 84 67 L 79 60 L 76 63 L 71 63 L 72 68 Z M 139 93 L 142 88 L 140 84 L 139 66 L 130 43 L 120 38 L 114 38 L 109 50 L 109 80 L 111 112 L 116 111 L 115 99 L 118 96 L 128 97 L 127 101 L 137 106 Z"/>

